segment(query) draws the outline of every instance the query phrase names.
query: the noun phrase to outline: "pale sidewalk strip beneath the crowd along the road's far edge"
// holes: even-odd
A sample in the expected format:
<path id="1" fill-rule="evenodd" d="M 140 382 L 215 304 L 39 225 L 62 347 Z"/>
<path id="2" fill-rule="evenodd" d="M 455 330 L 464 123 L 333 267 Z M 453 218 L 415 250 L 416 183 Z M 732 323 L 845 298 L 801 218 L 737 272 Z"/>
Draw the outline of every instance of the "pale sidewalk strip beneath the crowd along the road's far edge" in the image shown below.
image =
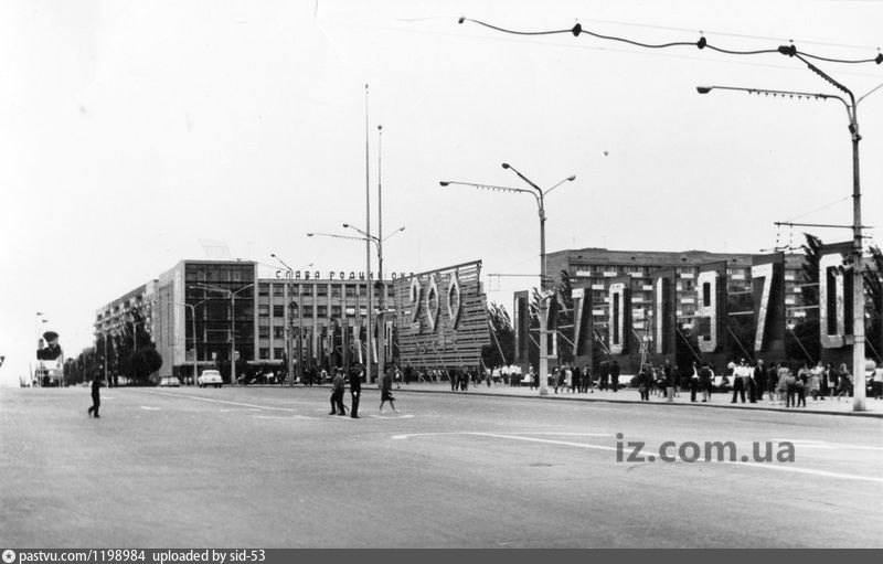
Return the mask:
<path id="1" fill-rule="evenodd" d="M 362 384 L 363 386 L 365 384 Z M 370 384 L 368 384 L 370 386 Z M 522 387 L 522 386 L 508 386 L 508 385 L 491 385 L 488 387 L 486 383 L 470 385 L 469 390 L 466 392 L 451 392 L 450 391 L 450 383 L 447 381 L 443 382 L 411 382 L 409 384 L 401 384 L 398 390 L 394 390 L 395 392 L 424 392 L 424 393 L 446 393 L 446 394 L 462 394 L 462 395 L 504 395 L 510 397 L 530 397 L 536 400 L 549 400 L 549 401 L 561 401 L 561 402 L 613 402 L 613 403 L 627 403 L 627 404 L 652 404 L 652 405 L 671 405 L 671 406 L 680 406 L 681 408 L 702 408 L 702 407 L 714 407 L 714 408 L 722 408 L 722 409 L 756 409 L 756 411 L 767 411 L 767 412 L 788 412 L 788 413 L 816 413 L 816 414 L 827 414 L 827 415 L 848 415 L 848 416 L 859 416 L 859 417 L 880 417 L 883 418 L 883 401 L 874 400 L 873 397 L 868 397 L 865 400 L 865 408 L 864 412 L 853 412 L 852 411 L 852 397 L 843 397 L 839 402 L 837 398 L 827 398 L 825 401 L 818 400 L 812 401 L 811 397 L 807 397 L 807 406 L 806 407 L 785 407 L 784 404 L 779 402 L 768 402 L 766 394 L 764 394 L 764 400 L 757 402 L 756 404 L 752 404 L 748 402 L 743 403 L 730 403 L 733 400 L 732 392 L 716 392 L 712 394 L 711 402 L 702 403 L 701 402 L 701 394 L 698 396 L 696 403 L 690 402 L 690 392 L 680 392 L 680 397 L 675 397 L 672 402 L 669 402 L 666 397 L 661 395 L 650 395 L 649 402 L 641 402 L 640 395 L 638 394 L 638 390 L 635 387 L 626 387 L 619 389 L 618 392 L 614 393 L 610 390 L 602 392 L 599 390 L 595 390 L 594 393 L 588 392 L 585 394 L 581 393 L 571 393 L 570 391 L 564 391 L 563 389 L 558 389 L 558 393 L 555 394 L 555 389 L 550 386 L 547 389 L 549 395 L 541 396 L 538 390 L 531 390 L 530 387 Z"/>

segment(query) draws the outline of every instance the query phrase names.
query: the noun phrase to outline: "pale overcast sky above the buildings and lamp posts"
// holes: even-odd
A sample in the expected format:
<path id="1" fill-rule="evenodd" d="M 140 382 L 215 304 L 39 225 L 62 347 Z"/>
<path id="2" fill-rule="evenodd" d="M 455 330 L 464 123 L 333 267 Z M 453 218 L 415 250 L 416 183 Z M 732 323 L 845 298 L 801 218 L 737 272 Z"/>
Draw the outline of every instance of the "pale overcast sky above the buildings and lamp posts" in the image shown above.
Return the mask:
<path id="1" fill-rule="evenodd" d="M 28 374 L 36 311 L 76 355 L 99 307 L 181 259 L 364 269 L 364 245 L 306 233 L 364 227 L 366 129 L 375 232 L 380 124 L 384 234 L 406 227 L 387 270 L 480 258 L 487 275 L 539 274 L 531 196 L 438 184 L 523 188 L 503 161 L 543 187 L 576 174 L 546 200 L 549 252 L 755 253 L 776 221 L 852 222 L 840 103 L 695 91 L 838 93 L 797 58 L 461 15 L 648 43 L 703 32 L 731 50 L 794 40 L 833 58 L 883 45 L 877 1 L 6 0 L 0 382 Z M 857 95 L 883 83 L 883 65 L 817 64 Z M 859 123 L 863 223 L 880 226 L 883 88 Z M 535 285 L 485 281 L 510 311 Z"/>

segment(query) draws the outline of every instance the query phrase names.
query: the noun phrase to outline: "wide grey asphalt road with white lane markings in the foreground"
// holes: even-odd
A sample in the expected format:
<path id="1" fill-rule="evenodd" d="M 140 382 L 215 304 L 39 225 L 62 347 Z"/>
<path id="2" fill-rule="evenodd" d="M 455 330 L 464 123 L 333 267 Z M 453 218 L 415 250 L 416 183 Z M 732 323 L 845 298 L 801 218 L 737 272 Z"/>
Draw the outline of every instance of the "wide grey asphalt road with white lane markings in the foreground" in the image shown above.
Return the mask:
<path id="1" fill-rule="evenodd" d="M 0 546 L 883 546 L 880 418 L 404 391 L 381 415 L 369 386 L 352 419 L 328 389 L 102 392 L 94 419 L 86 387 L 0 390 Z M 737 460 L 647 459 L 669 440 Z M 755 441 L 773 461 L 738 460 Z"/>

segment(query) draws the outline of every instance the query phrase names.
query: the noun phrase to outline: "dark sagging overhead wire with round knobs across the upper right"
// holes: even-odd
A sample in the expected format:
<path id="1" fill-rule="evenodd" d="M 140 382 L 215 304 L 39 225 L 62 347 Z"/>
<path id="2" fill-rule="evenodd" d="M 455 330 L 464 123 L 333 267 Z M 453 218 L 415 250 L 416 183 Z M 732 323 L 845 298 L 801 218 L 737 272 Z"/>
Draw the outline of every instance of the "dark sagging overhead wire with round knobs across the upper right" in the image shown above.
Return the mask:
<path id="1" fill-rule="evenodd" d="M 586 30 L 583 28 L 582 24 L 577 23 L 573 28 L 564 29 L 564 30 L 542 30 L 542 31 L 520 31 L 520 30 L 510 30 L 507 28 L 501 28 L 499 25 L 493 25 L 491 23 L 482 22 L 480 20 L 472 20 L 470 18 L 461 17 L 458 22 L 472 22 L 485 28 L 489 28 L 491 30 L 500 31 L 503 33 L 510 33 L 512 35 L 556 35 L 556 34 L 566 34 L 571 33 L 574 36 L 578 38 L 582 34 L 592 35 L 593 38 L 606 40 L 606 41 L 616 41 L 619 43 L 626 43 L 629 45 L 635 45 L 645 49 L 671 49 L 671 47 L 696 47 L 700 50 L 709 49 L 711 51 L 715 51 L 717 53 L 725 53 L 728 55 L 765 55 L 765 54 L 784 54 L 784 55 L 802 55 L 808 58 L 815 58 L 817 61 L 826 61 L 829 63 L 845 63 L 845 64 L 859 64 L 859 63 L 874 63 L 881 64 L 883 63 L 883 53 L 877 52 L 876 56 L 873 58 L 836 58 L 829 56 L 822 56 L 815 53 L 807 53 L 806 51 L 798 50 L 794 43 L 790 45 L 780 45 L 775 49 L 757 49 L 757 50 L 749 50 L 749 51 L 740 51 L 733 49 L 724 49 L 717 45 L 712 45 L 705 39 L 704 35 L 700 34 L 699 40 L 696 41 L 672 41 L 669 43 L 645 43 L 642 41 L 637 41 L 629 38 L 623 38 L 618 35 L 605 35 L 603 33 L 597 33 L 591 30 Z"/>

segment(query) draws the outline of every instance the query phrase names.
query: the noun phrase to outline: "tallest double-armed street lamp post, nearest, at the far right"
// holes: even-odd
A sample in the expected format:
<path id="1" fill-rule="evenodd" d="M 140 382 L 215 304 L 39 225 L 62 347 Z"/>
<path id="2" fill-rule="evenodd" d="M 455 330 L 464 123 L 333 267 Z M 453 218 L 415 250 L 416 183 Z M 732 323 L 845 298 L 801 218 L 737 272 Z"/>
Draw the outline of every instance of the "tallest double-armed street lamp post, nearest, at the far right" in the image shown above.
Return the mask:
<path id="1" fill-rule="evenodd" d="M 815 94 L 815 93 L 806 93 L 806 92 L 790 92 L 790 91 L 772 91 L 772 89 L 762 89 L 762 88 L 742 88 L 742 87 L 734 87 L 734 86 L 698 86 L 696 92 L 699 94 L 709 94 L 711 91 L 721 89 L 721 91 L 741 91 L 747 92 L 748 94 L 764 94 L 764 95 L 773 95 L 773 96 L 789 96 L 798 98 L 807 97 L 807 98 L 816 98 L 816 99 L 837 99 L 840 100 L 847 109 L 847 116 L 849 118 L 849 132 L 852 140 L 852 276 L 853 276 L 853 285 L 852 285 L 852 336 L 853 336 L 853 345 L 852 345 L 852 374 L 854 377 L 854 385 L 853 385 L 853 404 L 852 409 L 855 412 L 863 412 L 865 411 L 865 384 L 864 384 L 864 278 L 862 273 L 862 220 L 861 220 L 861 182 L 860 182 L 860 174 L 859 174 L 859 141 L 861 140 L 861 135 L 859 135 L 859 119 L 858 119 L 858 107 L 859 103 L 866 98 L 871 93 L 875 92 L 883 84 L 876 86 L 872 91 L 868 92 L 865 95 L 861 96 L 859 99 L 855 99 L 855 96 L 852 92 L 837 82 L 834 78 L 822 72 L 816 65 L 800 56 L 799 53 L 795 53 L 788 46 L 779 47 L 779 52 L 786 55 L 796 56 L 800 61 L 802 61 L 807 67 L 812 71 L 813 73 L 818 74 L 827 82 L 832 84 L 834 87 L 840 89 L 841 92 L 845 93 L 849 96 L 849 102 L 847 102 L 843 97 L 838 95 L 831 94 Z"/>

